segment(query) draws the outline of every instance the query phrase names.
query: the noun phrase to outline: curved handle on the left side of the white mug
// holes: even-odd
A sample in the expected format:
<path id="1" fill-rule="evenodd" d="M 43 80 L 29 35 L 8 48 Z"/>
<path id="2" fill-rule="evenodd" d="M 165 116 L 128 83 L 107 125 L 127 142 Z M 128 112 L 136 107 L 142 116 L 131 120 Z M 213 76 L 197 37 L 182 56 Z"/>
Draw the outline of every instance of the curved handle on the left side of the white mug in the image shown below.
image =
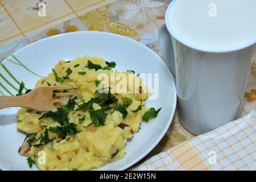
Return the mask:
<path id="1" fill-rule="evenodd" d="M 170 33 L 168 32 L 165 23 L 159 29 L 158 42 L 164 62 L 166 62 L 168 68 L 172 72 L 172 75 L 175 77 L 174 48 L 172 46 Z"/>

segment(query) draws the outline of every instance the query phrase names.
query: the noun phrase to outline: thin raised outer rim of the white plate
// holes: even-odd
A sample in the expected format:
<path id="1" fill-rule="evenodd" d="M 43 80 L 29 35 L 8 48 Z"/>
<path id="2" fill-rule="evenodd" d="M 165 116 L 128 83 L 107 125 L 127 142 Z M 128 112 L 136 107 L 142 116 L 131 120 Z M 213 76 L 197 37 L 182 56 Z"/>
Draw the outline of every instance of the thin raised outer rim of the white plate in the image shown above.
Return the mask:
<path id="1" fill-rule="evenodd" d="M 139 158 L 133 160 L 132 162 L 126 164 L 125 166 L 121 167 L 118 169 L 118 171 L 123 171 L 125 169 L 128 169 L 132 166 L 134 166 L 134 164 L 138 163 L 141 159 L 143 159 L 146 155 L 148 155 L 155 147 L 156 145 L 160 142 L 160 140 L 162 140 L 162 138 L 164 137 L 164 135 L 167 133 L 167 130 L 169 129 L 169 127 L 171 126 L 171 123 L 172 123 L 172 120 L 174 119 L 174 115 L 175 115 L 175 111 L 176 111 L 176 107 L 177 107 L 177 92 L 176 92 L 176 84 L 175 84 L 175 78 L 174 76 L 172 75 L 170 69 L 167 67 L 166 63 L 164 63 L 163 59 L 154 51 L 152 51 L 152 49 L 148 48 L 147 46 L 144 46 L 142 43 L 139 43 L 137 42 L 136 40 L 133 40 L 131 38 L 128 38 L 127 36 L 122 36 L 122 35 L 118 35 L 118 34 L 112 34 L 110 32 L 98 32 L 98 31 L 78 31 L 78 32 L 68 32 L 68 33 L 65 33 L 65 34 L 59 34 L 59 35 L 53 35 L 53 36 L 49 36 L 47 38 L 43 38 L 43 39 L 40 39 L 34 43 L 31 43 L 31 44 L 28 44 L 27 46 L 19 49 L 18 51 L 12 53 L 11 55 L 14 55 L 16 56 L 16 54 L 18 54 L 19 52 L 22 52 L 24 51 L 24 49 L 27 49 L 28 47 L 31 47 L 31 46 L 34 46 L 35 44 L 40 44 L 42 42 L 45 42 L 45 41 L 48 41 L 50 39 L 55 39 L 57 37 L 60 37 L 60 36 L 72 36 L 72 35 L 79 35 L 79 34 L 102 34 L 102 35 L 109 35 L 109 36 L 117 36 L 118 38 L 121 38 L 121 39 L 124 39 L 125 41 L 130 41 L 130 42 L 133 42 L 134 44 L 137 44 L 138 46 L 141 46 L 143 47 L 144 49 L 146 49 L 148 52 L 151 52 L 154 54 L 154 56 L 157 58 L 155 59 L 156 61 L 158 61 L 158 63 L 160 64 L 163 64 L 164 67 L 168 70 L 168 74 L 170 75 L 170 82 L 173 82 L 174 84 L 174 87 L 173 87 L 173 90 L 172 92 L 174 93 L 174 108 L 172 109 L 170 115 L 168 116 L 168 122 L 167 122 L 167 125 L 166 127 L 164 128 L 164 130 L 162 131 L 162 134 L 158 137 L 157 140 L 155 140 L 154 144 L 152 144 L 151 147 L 148 147 L 148 149 L 141 155 L 139 156 Z M 10 56 L 11 56 L 10 55 Z M 10 57 L 6 57 L 5 60 L 2 61 L 2 63 L 6 63 L 7 62 L 7 59 Z M 124 156 L 125 157 L 125 156 Z M 122 158 L 123 159 L 123 158 Z M 2 166 L 0 166 L 0 169 L 3 170 L 3 171 L 7 171 L 8 169 L 5 169 L 3 168 Z M 100 168 L 97 168 L 97 169 L 101 169 Z M 32 171 L 32 170 L 31 170 Z M 40 171 L 40 169 L 39 169 Z"/>

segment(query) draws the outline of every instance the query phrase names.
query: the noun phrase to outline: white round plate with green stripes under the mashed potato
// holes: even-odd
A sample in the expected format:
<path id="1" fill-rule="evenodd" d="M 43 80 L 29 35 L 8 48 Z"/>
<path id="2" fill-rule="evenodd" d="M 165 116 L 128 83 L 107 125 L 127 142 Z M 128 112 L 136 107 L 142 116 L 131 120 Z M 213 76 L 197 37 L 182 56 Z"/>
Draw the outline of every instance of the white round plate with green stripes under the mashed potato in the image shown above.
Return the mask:
<path id="1" fill-rule="evenodd" d="M 125 157 L 117 162 L 101 167 L 101 170 L 124 170 L 141 160 L 159 143 L 166 133 L 174 117 L 176 107 L 176 89 L 171 72 L 162 59 L 151 49 L 125 36 L 106 32 L 72 32 L 52 36 L 32 43 L 14 56 L 30 71 L 47 76 L 60 59 L 73 60 L 77 56 L 97 56 L 106 61 L 115 61 L 118 71 L 134 70 L 137 73 L 159 73 L 159 97 L 157 100 L 147 100 L 147 107 L 162 110 L 156 119 L 143 123 L 139 133 L 135 134 L 126 144 Z M 11 61 L 18 63 L 12 56 Z M 34 88 L 39 76 L 26 68 L 3 61 L 5 67 L 19 82 L 23 81 L 27 88 Z M 19 85 L 0 67 L 0 73 L 15 88 Z M 16 94 L 16 90 L 0 77 L 5 88 Z M 0 84 L 3 94 L 9 95 Z M 16 129 L 16 112 L 18 108 L 0 110 L 0 168 L 5 170 L 30 170 L 25 156 L 18 154 L 25 135 Z M 32 169 L 37 169 L 35 166 Z"/>

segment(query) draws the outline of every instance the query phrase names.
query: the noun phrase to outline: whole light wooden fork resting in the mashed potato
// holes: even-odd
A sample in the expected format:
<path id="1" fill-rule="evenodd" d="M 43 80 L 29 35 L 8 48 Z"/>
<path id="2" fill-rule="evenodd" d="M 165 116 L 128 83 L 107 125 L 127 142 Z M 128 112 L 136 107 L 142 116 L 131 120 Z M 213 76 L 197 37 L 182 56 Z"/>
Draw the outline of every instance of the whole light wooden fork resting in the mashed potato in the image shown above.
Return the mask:
<path id="1" fill-rule="evenodd" d="M 59 107 L 64 98 L 53 99 L 54 90 L 73 89 L 72 86 L 40 86 L 22 96 L 0 96 L 0 109 L 27 107 L 37 111 L 48 111 Z M 55 96 L 74 96 L 75 93 L 55 93 Z"/>

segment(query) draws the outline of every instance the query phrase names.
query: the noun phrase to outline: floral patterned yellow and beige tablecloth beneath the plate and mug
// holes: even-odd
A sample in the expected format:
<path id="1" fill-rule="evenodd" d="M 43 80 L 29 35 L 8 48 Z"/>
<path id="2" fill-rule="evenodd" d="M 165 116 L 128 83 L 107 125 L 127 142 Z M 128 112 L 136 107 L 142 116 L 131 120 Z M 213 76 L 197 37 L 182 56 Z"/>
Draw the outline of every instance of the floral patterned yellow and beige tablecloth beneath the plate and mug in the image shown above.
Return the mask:
<path id="1" fill-rule="evenodd" d="M 0 0 L 0 46 L 2 46 L 0 47 L 0 62 L 11 53 L 32 42 L 48 36 L 74 31 L 105 31 L 127 36 L 144 44 L 161 56 L 158 45 L 158 30 L 164 23 L 164 14 L 171 0 L 57 0 L 54 2 L 52 0 L 26 0 L 22 5 L 16 4 L 16 2 L 14 4 L 14 0 Z M 46 3 L 47 10 L 50 11 L 49 16 L 52 10 L 61 10 L 60 7 L 63 6 L 65 7 L 65 13 L 62 15 L 59 13 L 60 18 L 48 20 L 48 23 L 44 22 L 38 27 L 27 24 L 27 28 L 26 25 L 20 23 L 20 17 L 26 18 L 30 22 L 36 22 L 36 20 L 44 18 L 37 17 L 37 11 L 40 11 L 39 3 Z M 24 10 L 25 7 L 26 11 Z M 92 10 L 92 7 L 94 7 L 94 10 Z M 12 14 L 13 11 L 14 14 Z M 28 15 L 24 15 L 26 13 Z M 20 32 L 9 39 L 2 39 L 3 36 L 6 36 L 3 35 L 5 30 L 10 29 L 10 27 L 7 27 L 10 26 L 8 21 L 11 21 L 12 26 L 15 26 Z M 241 116 L 255 108 L 256 59 L 253 62 L 247 82 Z M 177 118 L 177 114 L 175 114 L 166 135 L 146 158 L 194 137 L 195 135 L 184 129 Z"/>

